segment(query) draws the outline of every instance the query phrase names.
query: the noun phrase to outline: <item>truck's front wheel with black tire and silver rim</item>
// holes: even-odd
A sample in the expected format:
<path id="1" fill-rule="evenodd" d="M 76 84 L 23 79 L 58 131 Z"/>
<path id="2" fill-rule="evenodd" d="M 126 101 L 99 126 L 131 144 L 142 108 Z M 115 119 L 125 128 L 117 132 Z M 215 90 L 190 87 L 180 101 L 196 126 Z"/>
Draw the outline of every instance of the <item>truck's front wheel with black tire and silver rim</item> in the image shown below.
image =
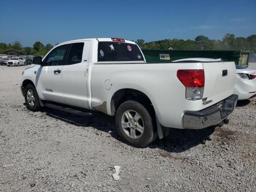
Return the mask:
<path id="1" fill-rule="evenodd" d="M 31 84 L 28 84 L 25 88 L 25 102 L 30 111 L 39 111 L 41 109 L 38 94 L 34 86 Z"/>

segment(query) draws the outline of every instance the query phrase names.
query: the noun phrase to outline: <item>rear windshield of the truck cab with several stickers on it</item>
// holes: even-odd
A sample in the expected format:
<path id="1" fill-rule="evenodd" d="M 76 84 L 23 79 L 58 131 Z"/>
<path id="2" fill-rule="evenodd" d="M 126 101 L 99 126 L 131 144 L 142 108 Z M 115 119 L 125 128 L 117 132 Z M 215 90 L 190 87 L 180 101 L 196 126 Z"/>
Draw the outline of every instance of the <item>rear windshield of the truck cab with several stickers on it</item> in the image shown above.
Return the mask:
<path id="1" fill-rule="evenodd" d="M 102 61 L 144 61 L 144 59 L 136 44 L 99 42 L 98 62 Z"/>

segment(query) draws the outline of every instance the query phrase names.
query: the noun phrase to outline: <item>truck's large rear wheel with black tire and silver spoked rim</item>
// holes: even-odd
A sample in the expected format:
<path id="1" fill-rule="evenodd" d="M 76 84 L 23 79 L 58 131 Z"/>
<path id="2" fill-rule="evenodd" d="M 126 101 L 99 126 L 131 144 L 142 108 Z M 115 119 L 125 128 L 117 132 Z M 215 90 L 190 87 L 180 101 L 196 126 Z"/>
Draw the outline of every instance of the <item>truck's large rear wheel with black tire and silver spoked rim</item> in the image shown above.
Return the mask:
<path id="1" fill-rule="evenodd" d="M 152 116 L 148 110 L 133 100 L 126 101 L 119 106 L 116 111 L 116 128 L 120 137 L 134 147 L 144 147 L 150 144 L 156 138 L 154 135 L 157 134 L 154 132 Z"/>

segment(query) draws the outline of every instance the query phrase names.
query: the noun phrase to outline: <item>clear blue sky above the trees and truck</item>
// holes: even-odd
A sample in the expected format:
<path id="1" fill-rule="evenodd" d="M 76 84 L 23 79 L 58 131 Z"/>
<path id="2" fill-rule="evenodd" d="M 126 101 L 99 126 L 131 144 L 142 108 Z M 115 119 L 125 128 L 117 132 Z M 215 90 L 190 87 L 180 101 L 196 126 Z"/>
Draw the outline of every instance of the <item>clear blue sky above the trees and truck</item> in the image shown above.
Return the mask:
<path id="1" fill-rule="evenodd" d="M 2 0 L 0 42 L 23 47 L 81 38 L 145 42 L 256 34 L 256 0 Z"/>

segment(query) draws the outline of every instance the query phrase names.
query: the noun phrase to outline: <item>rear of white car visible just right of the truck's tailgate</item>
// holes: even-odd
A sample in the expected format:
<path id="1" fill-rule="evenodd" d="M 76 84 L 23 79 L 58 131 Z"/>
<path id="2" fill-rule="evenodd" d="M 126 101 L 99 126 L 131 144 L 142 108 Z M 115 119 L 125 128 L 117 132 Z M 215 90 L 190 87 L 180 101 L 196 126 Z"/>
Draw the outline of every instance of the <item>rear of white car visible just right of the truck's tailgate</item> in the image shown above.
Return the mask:
<path id="1" fill-rule="evenodd" d="M 234 94 L 238 100 L 256 96 L 256 70 L 236 65 L 236 83 Z"/>

